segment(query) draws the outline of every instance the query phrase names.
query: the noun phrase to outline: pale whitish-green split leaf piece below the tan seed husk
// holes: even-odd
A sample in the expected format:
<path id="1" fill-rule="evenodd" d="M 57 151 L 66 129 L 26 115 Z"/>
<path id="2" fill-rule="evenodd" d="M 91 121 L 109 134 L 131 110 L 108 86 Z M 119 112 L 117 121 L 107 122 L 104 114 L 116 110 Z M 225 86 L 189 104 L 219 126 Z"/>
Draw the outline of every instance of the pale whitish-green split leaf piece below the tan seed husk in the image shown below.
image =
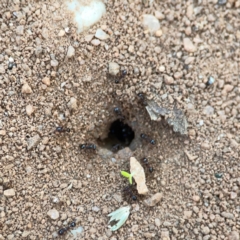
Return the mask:
<path id="1" fill-rule="evenodd" d="M 113 226 L 108 225 L 111 231 L 118 230 L 128 219 L 130 214 L 130 206 L 121 207 L 114 212 L 108 214 L 108 217 L 111 217 L 108 223 L 112 221 L 116 222 Z"/>

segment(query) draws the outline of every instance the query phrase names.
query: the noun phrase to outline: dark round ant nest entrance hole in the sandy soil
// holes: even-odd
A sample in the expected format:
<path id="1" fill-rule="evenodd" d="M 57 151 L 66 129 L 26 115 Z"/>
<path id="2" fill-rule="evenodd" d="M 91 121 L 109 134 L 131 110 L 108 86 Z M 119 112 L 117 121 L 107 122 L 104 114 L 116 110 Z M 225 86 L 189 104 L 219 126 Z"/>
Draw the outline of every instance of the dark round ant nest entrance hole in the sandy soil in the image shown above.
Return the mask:
<path id="1" fill-rule="evenodd" d="M 125 147 L 131 149 L 131 143 L 134 137 L 135 133 L 133 129 L 121 119 L 117 119 L 109 125 L 107 137 L 101 140 L 99 139 L 98 144 L 100 147 L 116 153 Z"/>

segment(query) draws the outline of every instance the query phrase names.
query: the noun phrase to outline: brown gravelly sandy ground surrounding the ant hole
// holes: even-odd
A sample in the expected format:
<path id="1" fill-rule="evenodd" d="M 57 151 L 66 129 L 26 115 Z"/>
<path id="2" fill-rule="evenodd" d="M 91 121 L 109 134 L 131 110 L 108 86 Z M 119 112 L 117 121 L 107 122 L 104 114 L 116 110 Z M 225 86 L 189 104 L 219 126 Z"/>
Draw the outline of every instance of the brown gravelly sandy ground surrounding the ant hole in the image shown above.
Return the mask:
<path id="1" fill-rule="evenodd" d="M 78 239 L 238 240 L 240 1 L 105 2 L 101 21 L 77 34 L 61 1 L 1 0 L 0 239 L 73 239 L 57 232 L 75 221 Z M 158 18 L 157 32 L 143 14 Z M 99 28 L 110 37 L 95 38 Z M 109 62 L 127 70 L 118 84 Z M 139 93 L 177 102 L 187 134 L 151 121 Z M 114 107 L 135 133 L 116 153 L 104 148 Z M 122 196 L 130 156 L 154 168 L 149 196 L 163 197 L 153 207 Z M 107 214 L 127 204 L 111 232 Z"/>

